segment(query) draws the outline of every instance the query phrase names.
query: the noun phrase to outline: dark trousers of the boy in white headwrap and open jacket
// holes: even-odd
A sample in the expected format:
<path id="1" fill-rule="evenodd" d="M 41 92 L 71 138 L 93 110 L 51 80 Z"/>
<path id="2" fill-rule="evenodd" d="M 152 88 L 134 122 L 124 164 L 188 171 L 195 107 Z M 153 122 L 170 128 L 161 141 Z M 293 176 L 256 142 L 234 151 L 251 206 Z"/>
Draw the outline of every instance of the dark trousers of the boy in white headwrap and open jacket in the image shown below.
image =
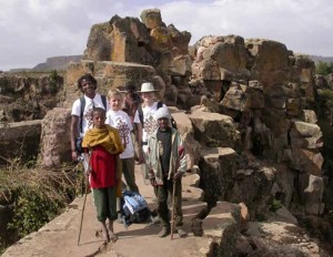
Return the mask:
<path id="1" fill-rule="evenodd" d="M 163 227 L 170 227 L 170 215 L 168 207 L 168 199 L 170 202 L 171 212 L 172 212 L 172 191 L 175 186 L 174 192 L 174 216 L 175 216 L 175 226 L 183 226 L 183 212 L 182 212 L 182 183 L 181 179 L 176 179 L 175 183 L 169 181 L 168 177 L 163 179 L 163 185 L 158 185 L 154 187 L 155 195 L 158 197 L 158 214 L 160 216 Z"/>

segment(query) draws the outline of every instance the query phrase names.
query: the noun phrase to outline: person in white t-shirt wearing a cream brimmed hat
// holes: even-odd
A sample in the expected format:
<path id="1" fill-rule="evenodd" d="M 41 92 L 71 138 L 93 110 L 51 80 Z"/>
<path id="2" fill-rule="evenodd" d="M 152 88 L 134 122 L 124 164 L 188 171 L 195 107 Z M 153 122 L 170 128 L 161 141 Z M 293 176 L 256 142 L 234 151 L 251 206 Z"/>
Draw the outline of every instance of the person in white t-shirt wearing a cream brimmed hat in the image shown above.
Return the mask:
<path id="1" fill-rule="evenodd" d="M 140 161 L 145 163 L 148 154 L 148 138 L 152 133 L 158 128 L 158 122 L 154 119 L 154 114 L 158 111 L 158 101 L 154 99 L 154 93 L 158 90 L 154 89 L 154 85 L 151 82 L 142 83 L 141 91 L 139 93 L 142 97 L 142 114 L 140 114 L 140 109 L 137 110 L 134 116 L 134 123 L 138 126 L 138 142 L 142 145 Z M 165 104 L 162 104 L 163 107 L 167 107 Z M 144 165 L 144 175 L 148 176 L 148 168 Z"/>

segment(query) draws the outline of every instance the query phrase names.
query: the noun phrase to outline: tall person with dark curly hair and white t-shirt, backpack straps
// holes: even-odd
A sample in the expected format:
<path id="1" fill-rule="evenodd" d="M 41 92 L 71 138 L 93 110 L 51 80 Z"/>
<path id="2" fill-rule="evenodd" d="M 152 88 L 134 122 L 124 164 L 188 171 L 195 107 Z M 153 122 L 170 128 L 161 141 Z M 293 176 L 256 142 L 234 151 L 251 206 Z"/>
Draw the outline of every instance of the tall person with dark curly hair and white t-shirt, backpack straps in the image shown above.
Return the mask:
<path id="1" fill-rule="evenodd" d="M 77 162 L 78 157 L 80 156 L 80 153 L 77 150 L 77 140 L 80 137 L 82 138 L 85 132 L 92 127 L 92 109 L 102 107 L 105 111 L 109 110 L 109 104 L 105 101 L 105 96 L 97 93 L 97 80 L 93 78 L 93 75 L 82 75 L 78 80 L 78 88 L 84 94 L 84 99 L 81 97 L 75 100 L 71 112 L 71 150 L 72 161 L 74 162 Z M 82 103 L 84 103 L 83 110 Z"/>

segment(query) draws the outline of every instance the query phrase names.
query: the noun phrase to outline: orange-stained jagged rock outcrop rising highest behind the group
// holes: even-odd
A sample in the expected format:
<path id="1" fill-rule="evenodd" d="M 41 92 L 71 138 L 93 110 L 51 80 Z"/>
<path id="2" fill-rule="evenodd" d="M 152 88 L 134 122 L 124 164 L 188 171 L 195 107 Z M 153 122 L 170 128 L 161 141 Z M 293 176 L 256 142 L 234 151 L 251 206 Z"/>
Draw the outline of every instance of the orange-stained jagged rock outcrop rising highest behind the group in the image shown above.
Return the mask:
<path id="1" fill-rule="evenodd" d="M 91 28 L 83 60 L 141 63 L 155 68 L 165 83 L 164 102 L 175 105 L 178 88 L 186 86 L 191 75 L 188 47 L 191 34 L 165 25 L 158 9 L 148 9 L 137 18 L 114 16 L 109 22 Z M 142 80 L 151 78 L 135 78 Z M 190 93 L 190 91 L 188 91 Z"/>

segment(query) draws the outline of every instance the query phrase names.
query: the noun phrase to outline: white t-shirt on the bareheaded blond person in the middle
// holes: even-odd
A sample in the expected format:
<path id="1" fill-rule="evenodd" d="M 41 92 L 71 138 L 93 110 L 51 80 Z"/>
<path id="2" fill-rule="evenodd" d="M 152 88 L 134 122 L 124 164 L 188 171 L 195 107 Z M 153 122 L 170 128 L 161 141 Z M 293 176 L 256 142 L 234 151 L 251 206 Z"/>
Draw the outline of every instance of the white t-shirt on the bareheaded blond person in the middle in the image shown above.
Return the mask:
<path id="1" fill-rule="evenodd" d="M 123 111 L 109 110 L 107 113 L 105 124 L 109 124 L 119 131 L 120 138 L 125 147 L 124 151 L 119 155 L 120 158 L 134 157 L 134 147 L 131 137 L 133 125 L 129 115 Z"/>

